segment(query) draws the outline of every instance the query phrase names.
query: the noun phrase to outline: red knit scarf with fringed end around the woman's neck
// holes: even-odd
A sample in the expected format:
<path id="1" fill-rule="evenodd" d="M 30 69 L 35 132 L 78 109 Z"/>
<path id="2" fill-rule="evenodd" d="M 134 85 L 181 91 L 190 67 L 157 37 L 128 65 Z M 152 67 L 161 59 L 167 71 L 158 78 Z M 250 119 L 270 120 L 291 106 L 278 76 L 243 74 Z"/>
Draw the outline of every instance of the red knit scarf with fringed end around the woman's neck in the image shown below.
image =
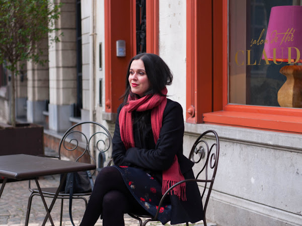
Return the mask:
<path id="1" fill-rule="evenodd" d="M 164 95 L 167 94 L 167 88 L 162 90 Z M 135 96 L 135 95 L 134 95 Z M 164 110 L 167 104 L 167 97 L 159 94 L 155 95 L 145 95 L 141 98 L 128 96 L 128 104 L 123 106 L 119 114 L 119 126 L 122 142 L 125 148 L 135 147 L 134 137 L 133 137 L 133 126 L 131 112 L 151 110 L 151 126 L 155 143 L 157 143 L 163 122 Z M 163 185 L 162 193 L 164 194 L 170 186 L 176 184 L 177 182 L 184 180 L 178 163 L 177 156 L 175 155 L 173 163 L 168 170 L 163 171 Z M 186 200 L 186 184 L 182 183 L 172 189 L 174 194 L 177 195 L 182 200 Z M 171 194 L 172 194 L 171 190 Z"/>

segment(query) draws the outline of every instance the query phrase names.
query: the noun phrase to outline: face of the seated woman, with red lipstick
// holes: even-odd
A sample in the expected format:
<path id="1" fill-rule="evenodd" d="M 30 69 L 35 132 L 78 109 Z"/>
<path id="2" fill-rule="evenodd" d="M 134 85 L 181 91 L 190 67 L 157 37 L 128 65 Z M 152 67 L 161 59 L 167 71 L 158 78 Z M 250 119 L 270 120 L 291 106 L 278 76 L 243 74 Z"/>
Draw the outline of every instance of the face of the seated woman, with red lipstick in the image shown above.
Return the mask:
<path id="1" fill-rule="evenodd" d="M 145 92 L 149 89 L 150 81 L 141 59 L 132 61 L 129 69 L 128 81 L 131 91 L 140 97 L 144 96 Z"/>

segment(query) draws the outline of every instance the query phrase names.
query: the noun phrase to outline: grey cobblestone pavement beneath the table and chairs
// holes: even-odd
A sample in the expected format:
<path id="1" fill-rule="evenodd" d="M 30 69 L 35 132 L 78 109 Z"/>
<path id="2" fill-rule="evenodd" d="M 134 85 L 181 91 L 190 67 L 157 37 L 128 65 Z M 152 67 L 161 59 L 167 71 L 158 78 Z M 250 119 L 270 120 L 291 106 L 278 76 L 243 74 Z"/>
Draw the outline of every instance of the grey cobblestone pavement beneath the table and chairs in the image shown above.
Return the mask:
<path id="1" fill-rule="evenodd" d="M 39 179 L 41 187 L 58 186 L 59 176 L 47 176 Z M 34 181 L 33 183 L 34 184 Z M 25 224 L 25 216 L 27 210 L 27 202 L 30 191 L 28 190 L 28 181 L 9 182 L 5 185 L 3 194 L 0 198 L 0 226 L 21 226 Z M 50 198 L 46 198 L 46 202 L 49 205 Z M 81 199 L 73 199 L 72 201 L 72 216 L 75 225 L 79 225 L 80 220 L 85 212 L 85 203 Z M 39 226 L 42 224 L 45 217 L 45 209 L 40 196 L 34 196 L 32 201 L 31 213 L 29 217 L 29 226 Z M 58 199 L 54 204 L 51 211 L 51 217 L 55 225 L 60 225 L 60 200 Z M 136 226 L 139 225 L 136 219 L 131 218 L 125 214 L 125 225 Z M 51 225 L 48 220 L 46 225 Z M 63 207 L 63 226 L 71 225 L 68 212 L 68 201 L 64 200 Z M 102 225 L 102 221 L 99 219 L 96 226 Z M 160 222 L 150 222 L 147 225 L 162 225 Z M 166 225 L 170 225 L 167 223 Z M 185 225 L 185 224 L 180 224 Z M 190 225 L 203 225 L 201 223 L 195 223 Z M 114 225 L 113 225 L 114 226 Z"/>

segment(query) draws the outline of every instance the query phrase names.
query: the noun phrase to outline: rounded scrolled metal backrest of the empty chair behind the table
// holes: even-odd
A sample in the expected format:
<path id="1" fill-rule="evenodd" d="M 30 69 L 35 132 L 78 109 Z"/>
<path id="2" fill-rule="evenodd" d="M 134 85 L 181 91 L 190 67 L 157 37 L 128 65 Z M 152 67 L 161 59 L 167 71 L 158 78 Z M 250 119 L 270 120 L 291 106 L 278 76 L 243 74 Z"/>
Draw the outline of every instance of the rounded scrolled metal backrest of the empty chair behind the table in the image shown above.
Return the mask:
<path id="1" fill-rule="evenodd" d="M 96 164 L 93 153 L 104 154 L 112 148 L 109 131 L 97 122 L 81 122 L 70 127 L 60 140 L 58 158 Z M 108 159 L 111 158 L 109 151 Z"/>

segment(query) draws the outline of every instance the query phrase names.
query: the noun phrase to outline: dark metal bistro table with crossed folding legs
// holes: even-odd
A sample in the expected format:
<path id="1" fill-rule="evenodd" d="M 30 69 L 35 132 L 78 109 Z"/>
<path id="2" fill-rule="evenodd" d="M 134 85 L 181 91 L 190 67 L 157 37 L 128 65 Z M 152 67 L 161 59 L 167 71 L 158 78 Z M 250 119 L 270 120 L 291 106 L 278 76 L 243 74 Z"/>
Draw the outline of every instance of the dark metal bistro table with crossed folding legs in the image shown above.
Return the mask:
<path id="1" fill-rule="evenodd" d="M 0 156 L 0 176 L 4 177 L 2 186 L 0 188 L 0 198 L 8 178 L 17 180 L 34 179 L 46 210 L 46 216 L 42 225 L 45 225 L 48 218 L 51 222 L 51 225 L 54 225 L 50 211 L 55 203 L 63 182 L 66 179 L 67 173 L 94 170 L 95 168 L 96 166 L 93 164 L 71 162 L 33 155 L 20 154 Z M 45 198 L 38 182 L 38 177 L 54 174 L 63 174 L 63 177 L 50 206 L 47 207 Z"/>

